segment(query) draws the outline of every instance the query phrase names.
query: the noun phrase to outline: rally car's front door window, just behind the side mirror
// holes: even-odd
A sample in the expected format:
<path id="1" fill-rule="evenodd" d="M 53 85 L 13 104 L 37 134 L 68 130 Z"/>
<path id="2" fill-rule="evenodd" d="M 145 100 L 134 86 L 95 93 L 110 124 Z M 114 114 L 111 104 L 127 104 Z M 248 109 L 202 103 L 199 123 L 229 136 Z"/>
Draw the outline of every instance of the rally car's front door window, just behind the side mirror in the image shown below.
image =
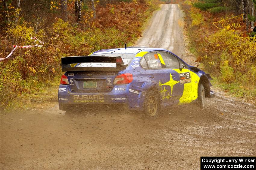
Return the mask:
<path id="1" fill-rule="evenodd" d="M 179 68 L 179 60 L 176 58 L 174 55 L 168 52 L 162 52 L 159 51 L 158 54 L 160 54 L 164 60 L 164 63 L 166 65 L 166 68 L 171 68 L 171 69 L 177 69 Z"/>

